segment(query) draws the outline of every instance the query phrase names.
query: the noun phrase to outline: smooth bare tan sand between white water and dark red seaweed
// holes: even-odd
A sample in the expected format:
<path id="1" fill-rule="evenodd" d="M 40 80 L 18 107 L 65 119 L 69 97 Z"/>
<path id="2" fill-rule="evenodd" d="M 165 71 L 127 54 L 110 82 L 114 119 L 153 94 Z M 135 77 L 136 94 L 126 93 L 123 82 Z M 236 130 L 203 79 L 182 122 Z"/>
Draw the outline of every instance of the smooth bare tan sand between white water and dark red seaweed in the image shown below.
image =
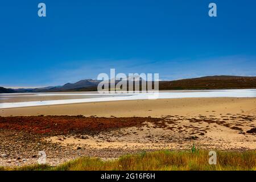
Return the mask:
<path id="1" fill-rule="evenodd" d="M 108 101 L 1 109 L 11 115 L 97 115 L 97 117 L 162 117 L 164 115 L 256 114 L 256 98 L 173 98 Z"/>

